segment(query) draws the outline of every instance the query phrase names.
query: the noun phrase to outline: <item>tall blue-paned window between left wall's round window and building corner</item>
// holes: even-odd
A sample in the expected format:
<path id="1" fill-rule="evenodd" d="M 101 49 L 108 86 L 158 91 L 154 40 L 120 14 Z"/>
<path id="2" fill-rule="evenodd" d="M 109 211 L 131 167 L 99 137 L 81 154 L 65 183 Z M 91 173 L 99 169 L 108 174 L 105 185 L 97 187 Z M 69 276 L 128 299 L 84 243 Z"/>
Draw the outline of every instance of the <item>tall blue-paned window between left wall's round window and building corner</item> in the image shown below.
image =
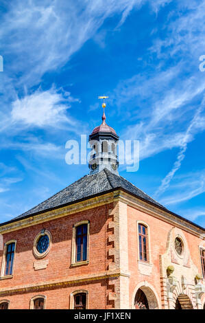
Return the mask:
<path id="1" fill-rule="evenodd" d="M 76 227 L 76 262 L 87 260 L 87 234 L 87 223 L 78 225 L 78 227 Z"/>

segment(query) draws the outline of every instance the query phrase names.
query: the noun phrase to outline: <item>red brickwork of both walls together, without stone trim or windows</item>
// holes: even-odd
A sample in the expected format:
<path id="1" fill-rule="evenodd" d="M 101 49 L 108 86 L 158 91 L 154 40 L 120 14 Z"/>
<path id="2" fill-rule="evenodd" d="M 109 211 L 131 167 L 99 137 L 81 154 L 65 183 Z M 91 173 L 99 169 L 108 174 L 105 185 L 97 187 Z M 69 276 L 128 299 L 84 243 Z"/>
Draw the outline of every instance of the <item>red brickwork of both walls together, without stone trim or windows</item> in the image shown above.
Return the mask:
<path id="1" fill-rule="evenodd" d="M 60 219 L 45 222 L 25 229 L 16 230 L 3 236 L 4 243 L 16 239 L 16 256 L 14 263 L 14 277 L 12 279 L 0 280 L 0 289 L 6 287 L 17 287 L 21 285 L 35 284 L 37 282 L 48 282 L 80 276 L 83 274 L 95 274 L 106 271 L 112 256 L 108 256 L 108 235 L 113 230 L 108 229 L 108 221 L 113 221 L 108 216 L 108 210 L 114 205 L 104 205 L 84 212 L 64 216 Z M 89 264 L 79 267 L 71 267 L 71 240 L 73 225 L 82 220 L 90 221 L 90 249 Z M 138 271 L 138 237 L 136 221 L 144 221 L 149 225 L 150 247 L 152 253 L 152 274 L 142 275 Z M 130 271 L 130 304 L 132 294 L 138 282 L 146 280 L 154 287 L 160 298 L 160 254 L 166 251 L 167 236 L 173 226 L 165 221 L 154 218 L 143 212 L 128 206 L 128 256 Z M 52 235 L 52 246 L 49 254 L 43 259 L 49 260 L 47 269 L 35 271 L 33 268 L 36 258 L 32 252 L 34 238 L 42 229 L 47 229 Z M 189 245 L 193 263 L 201 273 L 198 245 L 200 238 L 184 231 L 184 236 Z M 0 252 L 0 265 L 3 252 Z M 45 291 L 34 291 L 12 296 L 0 296 L 0 300 L 10 300 L 11 309 L 28 309 L 30 299 L 36 295 L 47 296 L 47 309 L 69 309 L 70 294 L 77 289 L 85 289 L 89 293 L 88 306 L 90 309 L 112 309 L 114 301 L 108 301 L 108 292 L 114 291 L 114 282 L 108 280 L 93 280 L 75 285 L 67 285 L 56 289 Z"/>

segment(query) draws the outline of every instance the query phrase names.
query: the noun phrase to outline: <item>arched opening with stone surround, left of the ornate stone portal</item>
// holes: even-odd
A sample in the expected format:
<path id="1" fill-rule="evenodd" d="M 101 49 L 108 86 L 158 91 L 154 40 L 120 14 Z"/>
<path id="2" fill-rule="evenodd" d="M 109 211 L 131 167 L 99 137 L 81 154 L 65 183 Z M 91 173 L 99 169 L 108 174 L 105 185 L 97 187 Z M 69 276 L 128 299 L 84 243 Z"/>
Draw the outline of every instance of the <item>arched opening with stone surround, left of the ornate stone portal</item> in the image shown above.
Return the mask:
<path id="1" fill-rule="evenodd" d="M 159 309 L 159 300 L 154 288 L 145 282 L 140 283 L 132 294 L 132 309 Z"/>

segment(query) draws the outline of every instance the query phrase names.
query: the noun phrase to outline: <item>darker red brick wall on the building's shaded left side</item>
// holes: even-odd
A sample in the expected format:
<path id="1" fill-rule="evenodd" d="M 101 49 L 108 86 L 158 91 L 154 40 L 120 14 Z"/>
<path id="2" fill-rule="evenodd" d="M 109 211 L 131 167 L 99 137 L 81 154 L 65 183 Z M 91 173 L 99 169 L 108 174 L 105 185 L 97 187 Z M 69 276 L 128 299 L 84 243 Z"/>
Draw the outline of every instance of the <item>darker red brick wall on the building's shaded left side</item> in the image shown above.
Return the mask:
<path id="1" fill-rule="evenodd" d="M 107 230 L 109 208 L 112 208 L 112 205 L 104 205 L 4 234 L 4 243 L 11 239 L 16 239 L 17 243 L 14 276 L 11 279 L 0 280 L 0 289 L 106 271 L 108 265 L 106 244 L 109 234 Z M 90 246 L 92 247 L 89 248 L 89 264 L 71 267 L 73 225 L 83 220 L 90 221 Z M 51 249 L 49 254 L 43 258 L 43 260 L 49 260 L 49 265 L 47 269 L 34 270 L 33 264 L 36 261 L 32 252 L 34 238 L 43 228 L 49 230 L 52 235 Z M 3 252 L 0 254 L 0 265 L 2 254 Z M 27 309 L 30 298 L 43 294 L 47 296 L 47 308 L 68 309 L 70 293 L 76 289 L 87 289 L 89 291 L 90 308 L 106 307 L 106 280 L 95 280 L 88 285 L 81 283 L 75 285 L 75 287 L 69 286 L 45 292 L 25 293 L 23 297 L 21 295 L 0 296 L 0 300 L 4 298 L 11 300 L 10 308 Z"/>

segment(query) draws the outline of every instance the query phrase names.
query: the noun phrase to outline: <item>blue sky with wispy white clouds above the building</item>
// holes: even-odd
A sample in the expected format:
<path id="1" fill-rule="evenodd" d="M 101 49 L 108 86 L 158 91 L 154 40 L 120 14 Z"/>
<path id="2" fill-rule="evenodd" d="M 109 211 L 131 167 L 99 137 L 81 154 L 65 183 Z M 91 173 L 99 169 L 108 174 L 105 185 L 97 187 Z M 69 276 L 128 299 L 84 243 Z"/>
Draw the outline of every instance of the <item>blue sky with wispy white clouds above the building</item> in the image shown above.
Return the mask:
<path id="1" fill-rule="evenodd" d="M 1 1 L 0 222 L 88 173 L 67 140 L 101 122 L 140 141 L 120 175 L 205 225 L 205 1 Z"/>

